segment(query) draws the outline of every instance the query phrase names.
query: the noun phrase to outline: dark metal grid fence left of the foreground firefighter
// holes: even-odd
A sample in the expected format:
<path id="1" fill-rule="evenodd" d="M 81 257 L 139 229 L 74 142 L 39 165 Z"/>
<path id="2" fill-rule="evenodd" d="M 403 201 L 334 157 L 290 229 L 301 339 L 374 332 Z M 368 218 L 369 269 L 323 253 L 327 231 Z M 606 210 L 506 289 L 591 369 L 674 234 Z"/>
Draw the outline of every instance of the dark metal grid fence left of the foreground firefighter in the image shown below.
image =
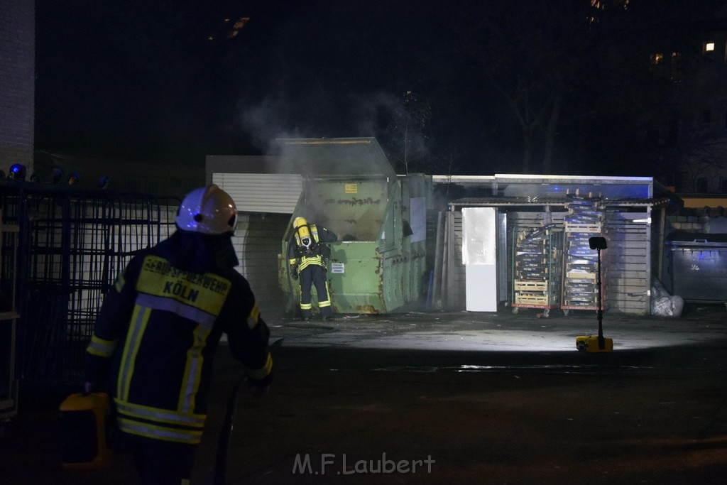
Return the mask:
<path id="1" fill-rule="evenodd" d="M 0 186 L 0 204 L 20 228 L 18 380 L 78 380 L 105 293 L 134 254 L 174 231 L 180 201 L 17 184 Z"/>

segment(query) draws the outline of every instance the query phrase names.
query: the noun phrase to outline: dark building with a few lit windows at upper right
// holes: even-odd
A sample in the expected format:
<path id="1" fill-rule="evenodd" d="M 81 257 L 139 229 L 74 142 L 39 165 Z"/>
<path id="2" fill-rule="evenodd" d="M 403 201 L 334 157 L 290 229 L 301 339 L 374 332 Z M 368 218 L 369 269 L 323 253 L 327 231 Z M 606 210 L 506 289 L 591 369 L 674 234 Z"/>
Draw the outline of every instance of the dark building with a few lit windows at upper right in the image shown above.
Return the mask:
<path id="1" fill-rule="evenodd" d="M 654 140 L 662 173 L 654 175 L 678 193 L 727 193 L 727 7 L 694 9 L 674 31 L 649 60 L 671 84 Z"/>

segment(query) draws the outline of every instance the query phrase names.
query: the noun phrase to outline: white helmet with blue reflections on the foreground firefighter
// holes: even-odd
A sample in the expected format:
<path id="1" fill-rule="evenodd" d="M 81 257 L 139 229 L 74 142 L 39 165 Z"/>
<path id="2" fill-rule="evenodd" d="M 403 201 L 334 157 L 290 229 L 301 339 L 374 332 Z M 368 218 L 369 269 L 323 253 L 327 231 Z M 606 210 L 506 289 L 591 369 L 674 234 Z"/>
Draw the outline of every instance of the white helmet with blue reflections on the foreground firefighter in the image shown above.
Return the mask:
<path id="1" fill-rule="evenodd" d="M 235 201 L 214 184 L 188 193 L 177 212 L 177 227 L 182 231 L 225 234 L 235 231 L 236 225 Z"/>

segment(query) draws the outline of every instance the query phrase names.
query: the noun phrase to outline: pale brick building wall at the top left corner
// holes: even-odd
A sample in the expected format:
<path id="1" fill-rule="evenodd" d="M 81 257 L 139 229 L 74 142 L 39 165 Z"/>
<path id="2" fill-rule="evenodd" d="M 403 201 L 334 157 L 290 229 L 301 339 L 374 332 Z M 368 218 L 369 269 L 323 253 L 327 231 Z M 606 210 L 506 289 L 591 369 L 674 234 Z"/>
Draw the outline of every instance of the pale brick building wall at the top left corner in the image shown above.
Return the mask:
<path id="1" fill-rule="evenodd" d="M 35 1 L 0 1 L 0 170 L 33 173 Z"/>

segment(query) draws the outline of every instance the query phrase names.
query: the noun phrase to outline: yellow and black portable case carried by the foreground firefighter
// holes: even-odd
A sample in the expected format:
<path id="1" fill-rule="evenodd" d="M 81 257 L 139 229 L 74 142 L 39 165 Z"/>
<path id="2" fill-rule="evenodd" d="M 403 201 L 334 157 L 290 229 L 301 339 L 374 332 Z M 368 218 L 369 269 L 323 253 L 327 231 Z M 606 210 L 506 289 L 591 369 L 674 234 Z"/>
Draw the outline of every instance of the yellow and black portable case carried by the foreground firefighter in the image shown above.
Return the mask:
<path id="1" fill-rule="evenodd" d="M 71 394 L 60 404 L 65 468 L 90 470 L 110 465 L 111 451 L 106 444 L 109 410 L 106 393 Z"/>

